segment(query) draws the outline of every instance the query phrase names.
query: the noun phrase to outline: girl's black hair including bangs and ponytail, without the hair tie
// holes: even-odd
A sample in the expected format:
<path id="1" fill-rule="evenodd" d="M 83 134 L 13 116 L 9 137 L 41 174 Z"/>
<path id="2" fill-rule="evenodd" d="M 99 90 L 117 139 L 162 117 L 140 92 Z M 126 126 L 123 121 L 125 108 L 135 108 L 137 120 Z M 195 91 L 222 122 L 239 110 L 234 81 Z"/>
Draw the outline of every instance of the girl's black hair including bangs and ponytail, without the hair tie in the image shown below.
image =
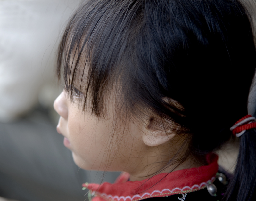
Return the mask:
<path id="1" fill-rule="evenodd" d="M 82 75 L 83 108 L 89 100 L 97 117 L 115 87 L 124 113 L 151 111 L 180 125 L 188 152 L 204 156 L 247 115 L 255 67 L 252 27 L 237 0 L 88 0 L 65 30 L 57 69 L 71 98 Z M 240 137 L 226 200 L 255 199 L 255 134 Z"/>

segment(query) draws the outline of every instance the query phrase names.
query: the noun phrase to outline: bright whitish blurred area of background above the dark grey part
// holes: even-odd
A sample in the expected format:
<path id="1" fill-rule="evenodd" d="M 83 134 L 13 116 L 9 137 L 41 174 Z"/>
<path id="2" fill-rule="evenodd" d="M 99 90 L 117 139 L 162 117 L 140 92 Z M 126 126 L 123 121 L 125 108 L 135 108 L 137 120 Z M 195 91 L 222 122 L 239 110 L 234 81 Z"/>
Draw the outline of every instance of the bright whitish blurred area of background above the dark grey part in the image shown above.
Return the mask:
<path id="1" fill-rule="evenodd" d="M 0 0 L 0 121 L 58 94 L 55 61 L 62 29 L 79 0 Z"/>

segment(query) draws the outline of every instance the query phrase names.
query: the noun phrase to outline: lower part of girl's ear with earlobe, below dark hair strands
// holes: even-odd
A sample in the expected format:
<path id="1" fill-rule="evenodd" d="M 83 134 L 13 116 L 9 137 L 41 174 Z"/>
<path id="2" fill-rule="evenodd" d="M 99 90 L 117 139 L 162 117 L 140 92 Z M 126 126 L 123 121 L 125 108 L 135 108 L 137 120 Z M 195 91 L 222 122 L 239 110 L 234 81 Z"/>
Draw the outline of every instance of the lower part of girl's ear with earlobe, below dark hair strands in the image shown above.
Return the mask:
<path id="1" fill-rule="evenodd" d="M 170 129 L 171 122 L 163 120 L 157 115 L 152 116 L 144 128 L 142 133 L 142 141 L 147 146 L 158 146 L 171 140 L 175 134 L 176 129 Z"/>

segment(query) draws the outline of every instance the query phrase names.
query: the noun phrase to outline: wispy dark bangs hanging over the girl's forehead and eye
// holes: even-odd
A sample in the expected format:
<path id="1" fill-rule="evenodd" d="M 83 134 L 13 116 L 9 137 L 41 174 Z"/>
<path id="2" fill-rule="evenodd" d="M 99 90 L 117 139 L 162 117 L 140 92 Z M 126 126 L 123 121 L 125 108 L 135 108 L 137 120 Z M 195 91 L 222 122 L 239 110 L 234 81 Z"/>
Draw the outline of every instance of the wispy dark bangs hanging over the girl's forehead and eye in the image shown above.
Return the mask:
<path id="1" fill-rule="evenodd" d="M 107 1 L 106 1 L 107 2 Z M 112 3 L 111 3 L 112 2 Z M 65 90 L 73 100 L 73 88 L 84 92 L 83 109 L 97 117 L 104 115 L 104 98 L 113 85 L 121 89 L 121 75 L 131 62 L 138 32 L 140 2 L 86 1 L 70 20 L 59 46 L 57 73 L 64 78 Z M 110 12 L 113 4 L 116 12 Z M 126 9 L 126 10 L 124 10 Z M 122 67 L 122 68 L 117 68 Z M 80 101 L 81 103 L 81 101 Z"/>

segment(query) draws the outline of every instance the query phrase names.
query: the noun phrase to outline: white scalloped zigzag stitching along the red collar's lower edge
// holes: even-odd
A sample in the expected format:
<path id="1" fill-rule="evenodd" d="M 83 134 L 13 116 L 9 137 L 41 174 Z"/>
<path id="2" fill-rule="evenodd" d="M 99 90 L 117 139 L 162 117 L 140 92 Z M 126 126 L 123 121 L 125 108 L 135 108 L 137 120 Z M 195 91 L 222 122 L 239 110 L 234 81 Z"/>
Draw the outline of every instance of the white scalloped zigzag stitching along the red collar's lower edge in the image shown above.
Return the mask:
<path id="1" fill-rule="evenodd" d="M 92 194 L 95 194 L 96 196 L 99 196 L 99 197 L 102 197 L 104 199 L 107 199 L 107 200 L 116 200 L 116 201 L 120 201 L 121 199 L 123 199 L 123 201 L 126 201 L 128 199 L 128 201 L 137 201 L 137 200 L 140 200 L 140 199 L 145 199 L 145 198 L 148 198 L 148 197 L 151 197 L 154 193 L 159 193 L 157 195 L 154 195 L 154 196 L 159 196 L 159 195 L 166 195 L 166 194 L 171 194 L 171 193 L 188 193 L 188 192 L 191 192 L 193 190 L 200 190 L 200 189 L 203 189 L 202 187 L 205 187 L 207 185 L 208 182 L 212 182 L 213 180 L 215 179 L 215 177 L 212 177 L 211 180 L 208 180 L 206 182 L 202 182 L 201 184 L 197 185 L 197 184 L 194 184 L 192 187 L 189 187 L 189 186 L 184 186 L 182 189 L 176 187 L 172 190 L 170 189 L 163 189 L 162 191 L 159 191 L 159 190 L 154 190 L 152 193 L 143 193 L 141 196 L 139 194 L 136 194 L 132 197 L 130 196 L 112 196 L 112 195 L 107 195 L 106 193 L 98 193 L 96 191 L 93 191 Z M 195 189 L 196 187 L 196 189 Z M 189 189 L 189 190 L 184 190 L 184 189 Z M 178 190 L 178 191 L 175 191 L 175 190 Z M 164 191 L 169 191 L 168 193 L 163 193 Z M 175 192 L 174 192 L 175 191 Z M 145 195 L 148 195 L 147 197 L 144 197 Z M 136 199 L 134 200 L 134 198 L 136 197 L 139 197 L 139 199 Z"/>

